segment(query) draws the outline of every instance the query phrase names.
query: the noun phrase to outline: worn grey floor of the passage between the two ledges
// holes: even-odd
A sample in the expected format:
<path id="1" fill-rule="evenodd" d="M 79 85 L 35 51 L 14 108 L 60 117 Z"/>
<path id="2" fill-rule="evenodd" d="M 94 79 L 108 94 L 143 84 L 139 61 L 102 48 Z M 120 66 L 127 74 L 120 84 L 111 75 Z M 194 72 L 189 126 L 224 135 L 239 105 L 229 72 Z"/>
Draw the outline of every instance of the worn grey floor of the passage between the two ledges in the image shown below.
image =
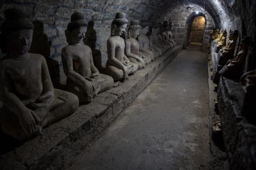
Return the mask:
<path id="1" fill-rule="evenodd" d="M 207 57 L 182 52 L 67 169 L 209 169 Z"/>

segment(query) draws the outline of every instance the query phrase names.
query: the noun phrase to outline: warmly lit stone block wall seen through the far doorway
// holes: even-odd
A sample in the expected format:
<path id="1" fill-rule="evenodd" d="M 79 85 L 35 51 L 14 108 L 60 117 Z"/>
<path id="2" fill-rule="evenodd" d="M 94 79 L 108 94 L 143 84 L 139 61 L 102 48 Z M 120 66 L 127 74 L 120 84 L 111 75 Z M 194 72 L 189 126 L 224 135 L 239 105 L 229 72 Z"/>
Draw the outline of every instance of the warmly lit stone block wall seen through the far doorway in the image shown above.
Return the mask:
<path id="1" fill-rule="evenodd" d="M 193 43 L 202 43 L 204 36 L 205 19 L 203 16 L 197 16 L 192 24 L 190 41 Z"/>

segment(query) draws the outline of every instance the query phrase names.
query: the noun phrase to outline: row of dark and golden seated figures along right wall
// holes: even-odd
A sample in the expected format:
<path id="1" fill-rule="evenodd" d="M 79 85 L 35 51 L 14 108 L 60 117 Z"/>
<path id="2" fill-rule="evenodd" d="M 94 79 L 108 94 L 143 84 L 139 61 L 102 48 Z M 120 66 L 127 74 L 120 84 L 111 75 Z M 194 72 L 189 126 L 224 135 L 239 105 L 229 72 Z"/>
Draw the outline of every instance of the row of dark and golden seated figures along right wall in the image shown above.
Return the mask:
<path id="1" fill-rule="evenodd" d="M 220 48 L 218 52 L 218 64 L 216 65 L 217 74 L 213 78 L 213 82 L 218 84 L 220 75 L 225 78 L 241 82 L 243 87 L 243 103 L 242 114 L 247 117 L 249 122 L 256 125 L 255 117 L 255 96 L 256 96 L 256 70 L 244 73 L 246 65 L 246 57 L 251 45 L 251 37 L 245 36 L 241 40 L 239 52 L 235 55 L 235 49 L 239 31 L 230 31 L 229 41 L 226 44 L 227 31 L 215 29 L 212 31 L 212 40 Z M 234 56 L 235 55 L 235 56 Z"/>

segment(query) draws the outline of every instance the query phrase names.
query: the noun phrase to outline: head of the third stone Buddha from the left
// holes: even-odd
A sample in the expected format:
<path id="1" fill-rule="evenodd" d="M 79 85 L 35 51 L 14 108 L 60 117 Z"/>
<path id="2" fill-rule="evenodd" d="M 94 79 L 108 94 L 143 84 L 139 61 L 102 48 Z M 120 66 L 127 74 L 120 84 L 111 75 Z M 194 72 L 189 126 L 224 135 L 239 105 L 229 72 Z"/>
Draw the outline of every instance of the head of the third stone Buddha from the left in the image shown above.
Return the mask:
<path id="1" fill-rule="evenodd" d="M 115 19 L 111 23 L 111 36 L 122 36 L 126 32 L 128 22 L 125 13 L 117 12 Z"/>

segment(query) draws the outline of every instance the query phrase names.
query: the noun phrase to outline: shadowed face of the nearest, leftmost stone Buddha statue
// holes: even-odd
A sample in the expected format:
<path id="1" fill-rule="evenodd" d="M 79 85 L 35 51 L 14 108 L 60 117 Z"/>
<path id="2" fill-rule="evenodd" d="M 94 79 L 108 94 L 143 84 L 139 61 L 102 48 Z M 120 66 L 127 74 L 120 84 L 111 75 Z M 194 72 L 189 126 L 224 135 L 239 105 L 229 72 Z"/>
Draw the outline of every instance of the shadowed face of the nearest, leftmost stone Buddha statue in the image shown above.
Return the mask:
<path id="1" fill-rule="evenodd" d="M 17 55 L 25 54 L 31 47 L 32 38 L 33 30 L 13 31 L 7 36 L 7 48 Z"/>

